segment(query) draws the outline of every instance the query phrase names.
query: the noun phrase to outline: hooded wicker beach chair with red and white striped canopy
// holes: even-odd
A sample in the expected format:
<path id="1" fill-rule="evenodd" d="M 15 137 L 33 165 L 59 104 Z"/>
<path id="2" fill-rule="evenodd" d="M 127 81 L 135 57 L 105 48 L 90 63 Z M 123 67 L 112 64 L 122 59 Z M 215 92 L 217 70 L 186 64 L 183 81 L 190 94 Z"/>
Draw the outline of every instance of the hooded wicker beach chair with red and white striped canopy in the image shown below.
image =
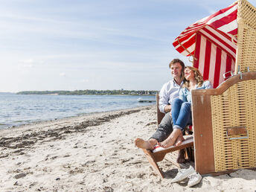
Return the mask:
<path id="1" fill-rule="evenodd" d="M 186 31 L 173 45 L 217 87 L 192 91 L 196 171 L 256 167 L 256 8 L 239 0 Z"/>

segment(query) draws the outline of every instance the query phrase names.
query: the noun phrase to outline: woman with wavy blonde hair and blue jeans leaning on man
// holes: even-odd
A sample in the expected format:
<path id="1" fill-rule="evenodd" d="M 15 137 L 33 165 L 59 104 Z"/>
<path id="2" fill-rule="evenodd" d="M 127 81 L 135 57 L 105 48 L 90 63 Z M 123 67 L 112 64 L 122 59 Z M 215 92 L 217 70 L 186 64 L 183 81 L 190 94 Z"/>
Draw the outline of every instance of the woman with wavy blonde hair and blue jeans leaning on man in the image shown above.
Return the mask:
<path id="1" fill-rule="evenodd" d="M 197 68 L 187 66 L 184 70 L 183 88 L 179 92 L 179 98 L 171 103 L 171 115 L 173 118 L 173 132 L 160 143 L 161 147 L 167 148 L 173 144 L 179 145 L 184 140 L 182 131 L 188 124 L 192 124 L 191 117 L 191 90 L 212 89 L 210 81 L 204 81 L 202 74 Z"/>

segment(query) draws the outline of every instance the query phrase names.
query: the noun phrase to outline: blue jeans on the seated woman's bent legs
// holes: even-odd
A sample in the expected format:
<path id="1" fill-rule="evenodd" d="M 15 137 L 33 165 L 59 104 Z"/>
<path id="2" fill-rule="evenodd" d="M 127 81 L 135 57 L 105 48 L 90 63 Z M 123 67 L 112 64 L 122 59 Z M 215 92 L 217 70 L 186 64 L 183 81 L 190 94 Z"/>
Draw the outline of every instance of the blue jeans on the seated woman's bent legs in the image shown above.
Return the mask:
<path id="1" fill-rule="evenodd" d="M 173 128 L 179 128 L 183 131 L 188 124 L 192 124 L 191 103 L 176 98 L 171 103 L 171 106 Z"/>

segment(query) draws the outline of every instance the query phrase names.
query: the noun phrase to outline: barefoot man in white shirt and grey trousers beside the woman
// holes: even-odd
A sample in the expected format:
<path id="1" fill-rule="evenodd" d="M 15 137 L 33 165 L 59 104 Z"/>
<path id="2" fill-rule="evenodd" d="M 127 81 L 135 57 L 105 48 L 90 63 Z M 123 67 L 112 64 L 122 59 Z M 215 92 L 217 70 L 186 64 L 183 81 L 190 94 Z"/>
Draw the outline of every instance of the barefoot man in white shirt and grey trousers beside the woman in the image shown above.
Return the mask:
<path id="1" fill-rule="evenodd" d="M 179 145 L 184 141 L 182 132 L 176 129 L 173 130 L 173 121 L 170 116 L 170 103 L 173 99 L 179 97 L 179 90 L 181 89 L 184 79 L 185 65 L 182 60 L 174 59 L 170 62 L 169 67 L 173 79 L 162 86 L 159 94 L 159 109 L 161 112 L 165 113 L 164 118 L 161 120 L 161 124 L 159 124 L 158 129 L 149 140 L 144 141 L 142 138 L 135 139 L 135 146 L 141 149 L 153 150 L 157 143 L 164 141 L 169 135 L 173 138 L 173 144 L 175 145 Z M 177 162 L 179 163 L 185 161 L 182 152 L 183 150 L 179 153 L 177 159 Z"/>

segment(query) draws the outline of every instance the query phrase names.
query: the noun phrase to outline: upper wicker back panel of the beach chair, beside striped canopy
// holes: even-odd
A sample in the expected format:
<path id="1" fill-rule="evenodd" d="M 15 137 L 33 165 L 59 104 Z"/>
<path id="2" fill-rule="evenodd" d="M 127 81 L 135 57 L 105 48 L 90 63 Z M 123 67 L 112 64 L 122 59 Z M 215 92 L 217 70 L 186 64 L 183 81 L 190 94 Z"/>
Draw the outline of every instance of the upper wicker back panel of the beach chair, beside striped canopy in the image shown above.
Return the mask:
<path id="1" fill-rule="evenodd" d="M 237 1 L 237 58 L 240 71 L 256 71 L 256 8 L 246 0 Z"/>

